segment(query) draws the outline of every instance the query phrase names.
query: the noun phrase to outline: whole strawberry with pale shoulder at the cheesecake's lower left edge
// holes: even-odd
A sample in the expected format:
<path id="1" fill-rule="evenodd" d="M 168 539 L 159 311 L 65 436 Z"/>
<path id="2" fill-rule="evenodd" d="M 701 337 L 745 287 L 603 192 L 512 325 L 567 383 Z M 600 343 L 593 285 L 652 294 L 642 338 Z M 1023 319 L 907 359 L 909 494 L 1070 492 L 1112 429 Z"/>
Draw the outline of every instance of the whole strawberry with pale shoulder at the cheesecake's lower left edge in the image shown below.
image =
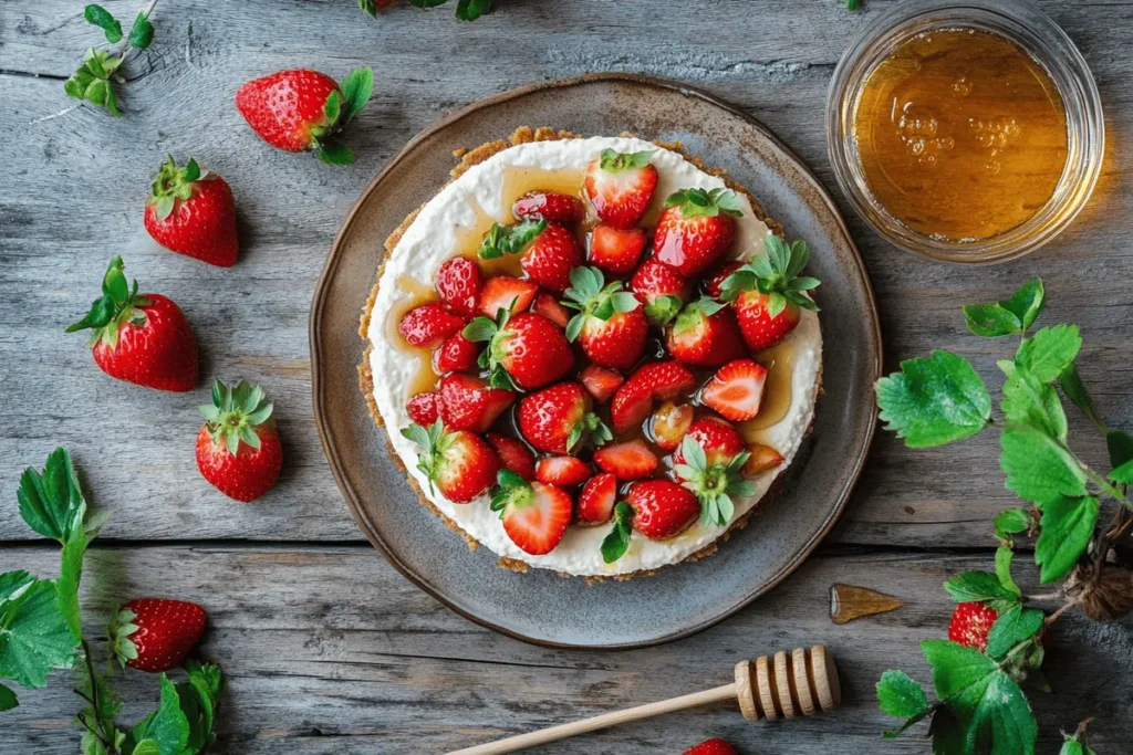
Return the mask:
<path id="1" fill-rule="evenodd" d="M 500 471 L 500 457 L 484 438 L 457 430 L 445 432 L 441 422 L 428 429 L 410 424 L 401 431 L 421 447 L 417 469 L 454 504 L 467 504 L 487 492 Z"/>

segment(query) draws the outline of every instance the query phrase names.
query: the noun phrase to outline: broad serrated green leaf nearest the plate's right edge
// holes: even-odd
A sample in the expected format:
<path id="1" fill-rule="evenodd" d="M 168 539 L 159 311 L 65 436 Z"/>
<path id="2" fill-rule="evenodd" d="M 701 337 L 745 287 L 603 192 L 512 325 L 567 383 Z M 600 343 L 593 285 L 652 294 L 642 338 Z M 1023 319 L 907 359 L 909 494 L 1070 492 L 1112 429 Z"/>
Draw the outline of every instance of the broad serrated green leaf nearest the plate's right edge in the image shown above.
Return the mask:
<path id="1" fill-rule="evenodd" d="M 966 438 L 991 417 L 991 396 L 980 376 L 947 351 L 902 362 L 900 372 L 877 381 L 876 392 L 887 429 L 912 448 Z"/>

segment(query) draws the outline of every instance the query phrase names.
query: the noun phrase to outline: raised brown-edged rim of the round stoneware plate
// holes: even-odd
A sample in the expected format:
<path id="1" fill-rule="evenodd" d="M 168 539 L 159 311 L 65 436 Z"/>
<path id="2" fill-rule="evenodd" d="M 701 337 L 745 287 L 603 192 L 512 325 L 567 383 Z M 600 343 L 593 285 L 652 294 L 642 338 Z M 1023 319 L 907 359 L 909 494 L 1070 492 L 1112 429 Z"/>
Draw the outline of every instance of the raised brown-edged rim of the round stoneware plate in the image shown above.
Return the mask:
<path id="1" fill-rule="evenodd" d="M 772 575 L 757 590 L 752 591 L 743 600 L 740 600 L 734 604 L 729 606 L 723 612 L 713 616 L 704 621 L 700 621 L 696 625 L 685 627 L 676 632 L 672 632 L 661 637 L 651 640 L 638 640 L 625 643 L 580 644 L 580 643 L 556 642 L 551 640 L 542 640 L 538 637 L 527 636 L 522 633 L 494 624 L 487 618 L 477 616 L 471 611 L 466 610 L 458 602 L 458 600 L 441 593 L 437 589 L 431 585 L 425 578 L 423 578 L 416 572 L 410 569 L 385 544 L 385 541 L 382 539 L 381 533 L 378 533 L 370 525 L 370 523 L 361 513 L 363 508 L 361 504 L 357 498 L 356 491 L 353 490 L 353 488 L 351 487 L 344 474 L 341 460 L 339 458 L 338 448 L 334 445 L 334 440 L 331 436 L 331 430 L 329 428 L 327 414 L 326 412 L 323 411 L 325 386 L 323 385 L 323 380 L 321 379 L 321 371 L 322 371 L 321 367 L 323 366 L 322 363 L 324 361 L 324 355 L 320 337 L 320 326 L 322 324 L 323 310 L 325 309 L 327 293 L 331 288 L 331 278 L 334 276 L 339 263 L 341 261 L 343 241 L 347 238 L 348 233 L 351 231 L 355 220 L 361 209 L 361 206 L 365 204 L 369 195 L 374 191 L 375 187 L 378 183 L 381 183 L 385 179 L 385 177 L 390 172 L 392 172 L 393 169 L 397 168 L 401 163 L 401 161 L 404 160 L 407 155 L 419 143 L 424 141 L 425 139 L 433 136 L 437 131 L 449 128 L 453 123 L 457 123 L 458 121 L 467 118 L 468 115 L 475 112 L 478 112 L 479 110 L 493 105 L 499 105 L 505 102 L 510 102 L 512 100 L 523 97 L 535 92 L 542 92 L 545 89 L 554 89 L 554 88 L 568 88 L 585 84 L 594 84 L 602 81 L 614 81 L 614 83 L 625 81 L 630 84 L 640 84 L 665 89 L 668 92 L 675 92 L 683 96 L 691 96 L 702 100 L 708 104 L 715 105 L 716 108 L 719 108 L 726 111 L 727 113 L 744 120 L 752 128 L 759 131 L 763 137 L 768 139 L 768 141 L 770 141 L 776 148 L 781 149 L 783 154 L 785 154 L 791 160 L 791 162 L 793 162 L 798 166 L 803 179 L 810 183 L 811 188 L 816 191 L 817 196 L 826 205 L 827 209 L 829 209 L 830 213 L 833 214 L 833 217 L 836 221 L 837 231 L 842 234 L 843 240 L 849 246 L 849 249 L 852 252 L 854 269 L 858 274 L 861 284 L 864 286 L 867 300 L 869 303 L 869 310 L 872 315 L 871 318 L 872 328 L 870 328 L 868 336 L 871 343 L 874 344 L 875 353 L 877 355 L 877 359 L 872 364 L 874 367 L 872 381 L 876 383 L 876 380 L 881 377 L 884 369 L 883 364 L 884 348 L 881 341 L 880 314 L 878 312 L 877 308 L 877 297 L 874 292 L 874 285 L 872 282 L 870 281 L 868 269 L 866 268 L 866 263 L 861 257 L 861 252 L 858 249 L 858 244 L 854 243 L 853 237 L 850 234 L 850 229 L 846 225 L 845 218 L 842 216 L 842 213 L 838 211 L 837 204 L 834 201 L 834 198 L 830 196 L 826 187 L 823 186 L 823 183 L 818 180 L 818 178 L 815 175 L 810 166 L 807 165 L 807 163 L 803 162 L 803 160 L 798 154 L 795 154 L 793 149 L 791 149 L 786 144 L 784 144 L 783 140 L 778 138 L 778 136 L 772 132 L 772 130 L 767 128 L 767 126 L 765 126 L 753 115 L 748 114 L 743 110 L 736 108 L 735 105 L 724 100 L 721 100 L 716 95 L 705 89 L 695 86 L 689 86 L 688 84 L 674 79 L 665 79 L 644 74 L 632 74 L 622 71 L 595 72 L 595 74 L 586 74 L 582 76 L 569 77 L 569 78 L 551 79 L 546 81 L 535 81 L 531 84 L 526 84 L 519 87 L 514 87 L 512 89 L 508 89 L 505 92 L 501 92 L 499 94 L 476 100 L 469 103 L 468 105 L 465 105 L 460 110 L 431 123 L 428 127 L 426 127 L 416 136 L 414 136 L 411 139 L 409 139 L 401 147 L 401 149 L 399 149 L 397 154 L 394 154 L 389 160 L 389 162 L 386 162 L 386 164 L 382 168 L 382 170 L 380 170 L 377 174 L 374 175 L 373 179 L 370 179 L 370 181 L 358 195 L 358 198 L 355 200 L 353 205 L 350 207 L 350 211 L 343 218 L 342 224 L 339 226 L 339 231 L 338 233 L 335 233 L 334 240 L 331 242 L 331 248 L 330 251 L 327 252 L 326 260 L 323 264 L 323 269 L 320 273 L 317 281 L 315 282 L 315 292 L 314 295 L 312 297 L 310 311 L 308 315 L 307 341 L 310 352 L 312 404 L 314 411 L 315 428 L 318 431 L 320 445 L 323 448 L 323 455 L 326 457 L 326 462 L 327 465 L 330 466 L 331 474 L 334 477 L 334 482 L 338 486 L 339 491 L 342 494 L 342 497 L 344 498 L 347 504 L 347 508 L 350 511 L 350 515 L 355 520 L 355 523 L 358 525 L 358 529 L 363 532 L 364 535 L 366 535 L 366 539 L 374 547 L 374 549 L 382 555 L 382 557 L 386 560 L 386 563 L 393 566 L 393 568 L 397 569 L 403 577 L 409 580 L 410 583 L 412 583 L 416 587 L 418 587 L 419 590 L 432 597 L 434 600 L 441 602 L 443 606 L 445 606 L 453 612 L 458 614 L 459 616 L 462 616 L 465 619 L 468 619 L 469 621 L 472 621 L 476 625 L 483 626 L 487 629 L 492 629 L 493 632 L 500 633 L 506 637 L 519 640 L 520 642 L 534 644 L 542 647 L 563 649 L 563 650 L 634 650 L 634 649 L 651 647 L 674 642 L 676 640 L 682 640 L 693 634 L 698 634 L 712 626 L 715 626 L 716 624 L 719 624 L 724 619 L 734 616 L 736 612 L 750 606 L 758 598 L 774 590 L 787 576 L 793 574 L 800 566 L 802 566 L 802 564 L 813 552 L 815 548 L 817 548 L 818 544 L 826 538 L 826 535 L 829 534 L 830 530 L 842 517 L 842 514 L 844 513 L 845 507 L 849 504 L 850 497 L 853 494 L 853 490 L 861 478 L 866 460 L 869 455 L 869 451 L 872 446 L 874 437 L 877 431 L 877 420 L 878 420 L 878 407 L 875 404 L 871 412 L 872 421 L 869 423 L 866 430 L 864 443 L 862 443 L 861 446 L 858 448 L 855 457 L 853 458 L 853 474 L 842 487 L 842 490 L 837 495 L 837 503 L 830 511 L 826 520 L 823 522 L 823 525 L 810 537 L 810 539 L 803 544 L 803 547 L 798 551 L 798 554 L 795 554 L 795 556 L 790 561 L 787 561 L 782 568 L 780 568 L 774 575 Z"/>

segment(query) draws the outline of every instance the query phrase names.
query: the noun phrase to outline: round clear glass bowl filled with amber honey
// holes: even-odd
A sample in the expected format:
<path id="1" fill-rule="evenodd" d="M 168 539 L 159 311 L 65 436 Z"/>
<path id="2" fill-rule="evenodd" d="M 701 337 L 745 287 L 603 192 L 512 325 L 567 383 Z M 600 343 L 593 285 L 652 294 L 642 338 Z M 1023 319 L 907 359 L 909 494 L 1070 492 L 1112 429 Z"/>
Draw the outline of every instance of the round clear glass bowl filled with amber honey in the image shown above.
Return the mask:
<path id="1" fill-rule="evenodd" d="M 1101 102 L 1074 43 L 1016 0 L 905 0 L 834 71 L 827 146 L 854 209 L 931 259 L 1014 259 L 1085 205 Z"/>

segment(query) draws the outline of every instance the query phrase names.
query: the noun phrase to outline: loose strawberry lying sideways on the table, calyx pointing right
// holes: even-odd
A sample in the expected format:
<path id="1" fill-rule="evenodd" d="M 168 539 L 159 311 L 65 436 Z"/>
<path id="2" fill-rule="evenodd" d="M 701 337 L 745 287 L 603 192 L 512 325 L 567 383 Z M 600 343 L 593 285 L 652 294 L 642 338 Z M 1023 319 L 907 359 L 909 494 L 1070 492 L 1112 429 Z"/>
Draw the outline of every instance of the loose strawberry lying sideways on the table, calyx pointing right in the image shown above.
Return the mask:
<path id="1" fill-rule="evenodd" d="M 348 147 L 329 139 L 369 101 L 374 71 L 358 68 L 342 80 L 307 69 L 278 71 L 241 86 L 236 106 L 259 137 L 287 152 L 314 149 L 325 163 L 353 162 Z"/>

